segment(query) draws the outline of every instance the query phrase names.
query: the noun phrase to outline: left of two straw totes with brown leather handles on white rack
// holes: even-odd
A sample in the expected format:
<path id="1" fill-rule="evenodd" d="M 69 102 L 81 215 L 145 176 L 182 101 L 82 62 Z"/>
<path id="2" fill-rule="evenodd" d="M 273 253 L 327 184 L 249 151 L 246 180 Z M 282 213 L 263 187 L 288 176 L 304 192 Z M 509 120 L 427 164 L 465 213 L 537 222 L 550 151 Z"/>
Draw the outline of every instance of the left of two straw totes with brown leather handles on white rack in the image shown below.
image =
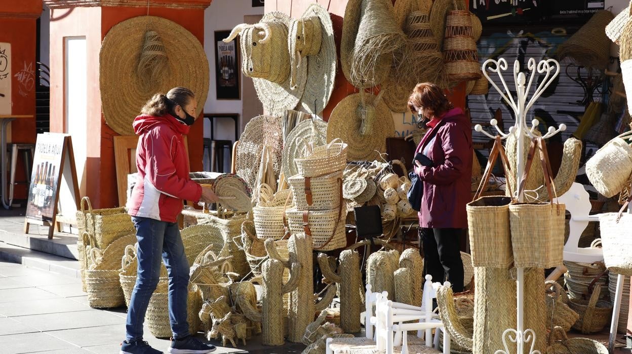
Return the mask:
<path id="1" fill-rule="evenodd" d="M 505 176 L 507 179 L 510 178 L 509 161 L 502 147 L 501 139 L 497 136 L 477 193 L 466 207 L 470 251 L 475 267 L 508 268 L 513 262 L 511 229 L 509 227 L 509 204 L 513 199 L 506 196 L 480 196 L 487 186 L 499 156 Z M 509 188 L 509 184 L 507 187 Z M 513 194 L 509 193 L 509 195 Z"/>

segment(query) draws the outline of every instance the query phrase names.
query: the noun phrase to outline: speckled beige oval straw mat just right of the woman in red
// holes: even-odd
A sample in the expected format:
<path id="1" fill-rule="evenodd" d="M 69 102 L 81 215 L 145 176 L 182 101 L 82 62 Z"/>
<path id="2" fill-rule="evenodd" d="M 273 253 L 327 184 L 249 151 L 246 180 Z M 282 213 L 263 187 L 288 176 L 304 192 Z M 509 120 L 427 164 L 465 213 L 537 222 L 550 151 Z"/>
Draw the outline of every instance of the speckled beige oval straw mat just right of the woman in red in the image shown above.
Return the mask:
<path id="1" fill-rule="evenodd" d="M 274 153 L 274 174 L 281 171 L 281 155 L 283 152 L 283 133 L 281 120 L 269 115 L 252 118 L 240 136 L 237 145 L 235 169 L 251 189 L 257 182 L 257 173 L 261 163 L 263 148 L 268 146 Z"/>

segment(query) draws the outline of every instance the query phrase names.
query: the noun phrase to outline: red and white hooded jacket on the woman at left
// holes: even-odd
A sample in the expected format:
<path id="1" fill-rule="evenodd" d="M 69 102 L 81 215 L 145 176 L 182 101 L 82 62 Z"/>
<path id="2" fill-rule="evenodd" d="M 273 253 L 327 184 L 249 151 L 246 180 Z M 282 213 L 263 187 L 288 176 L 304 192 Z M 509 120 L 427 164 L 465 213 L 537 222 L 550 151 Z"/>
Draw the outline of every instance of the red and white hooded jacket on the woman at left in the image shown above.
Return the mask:
<path id="1" fill-rule="evenodd" d="M 140 115 L 133 122 L 138 134 L 138 179 L 127 201 L 128 213 L 165 222 L 176 222 L 182 199 L 200 200 L 202 187 L 189 178 L 183 134 L 189 127 L 172 115 Z"/>

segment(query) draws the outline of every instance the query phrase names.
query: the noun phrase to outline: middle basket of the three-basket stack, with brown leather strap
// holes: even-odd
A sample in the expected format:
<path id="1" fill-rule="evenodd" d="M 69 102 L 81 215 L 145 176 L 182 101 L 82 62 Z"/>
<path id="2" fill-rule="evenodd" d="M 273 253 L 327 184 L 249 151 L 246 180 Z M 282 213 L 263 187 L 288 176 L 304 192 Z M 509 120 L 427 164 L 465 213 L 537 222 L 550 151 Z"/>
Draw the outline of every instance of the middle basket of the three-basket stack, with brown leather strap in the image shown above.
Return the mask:
<path id="1" fill-rule="evenodd" d="M 299 210 L 328 210 L 340 206 L 340 186 L 343 172 L 338 171 L 320 177 L 289 177 L 294 203 Z"/>

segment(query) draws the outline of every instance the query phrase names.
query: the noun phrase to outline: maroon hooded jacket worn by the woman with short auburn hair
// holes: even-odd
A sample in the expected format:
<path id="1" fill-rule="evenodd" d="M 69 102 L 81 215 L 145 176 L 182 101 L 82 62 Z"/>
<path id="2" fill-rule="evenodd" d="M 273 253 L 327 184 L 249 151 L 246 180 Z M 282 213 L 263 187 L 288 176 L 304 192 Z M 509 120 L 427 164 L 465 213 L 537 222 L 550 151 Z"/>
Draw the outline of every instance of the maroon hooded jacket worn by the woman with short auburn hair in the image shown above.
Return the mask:
<path id="1" fill-rule="evenodd" d="M 471 199 L 472 134 L 470 120 L 460 108 L 449 110 L 428 129 L 416 152 L 428 149 L 434 167 L 423 166 L 421 227 L 466 229 L 465 206 Z M 431 144 L 430 146 L 428 146 Z"/>

